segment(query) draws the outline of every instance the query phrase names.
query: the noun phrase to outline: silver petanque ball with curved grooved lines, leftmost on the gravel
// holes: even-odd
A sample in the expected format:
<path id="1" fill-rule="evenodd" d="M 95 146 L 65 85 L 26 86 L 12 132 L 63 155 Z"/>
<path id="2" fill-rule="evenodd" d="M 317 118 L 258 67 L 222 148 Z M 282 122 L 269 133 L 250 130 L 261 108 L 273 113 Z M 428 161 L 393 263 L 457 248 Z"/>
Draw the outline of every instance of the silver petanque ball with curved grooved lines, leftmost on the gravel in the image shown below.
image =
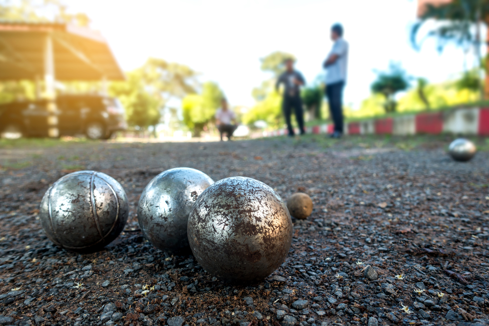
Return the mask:
<path id="1" fill-rule="evenodd" d="M 95 171 L 70 173 L 56 181 L 41 201 L 39 218 L 47 237 L 60 247 L 96 251 L 117 238 L 129 205 L 115 179 Z"/>

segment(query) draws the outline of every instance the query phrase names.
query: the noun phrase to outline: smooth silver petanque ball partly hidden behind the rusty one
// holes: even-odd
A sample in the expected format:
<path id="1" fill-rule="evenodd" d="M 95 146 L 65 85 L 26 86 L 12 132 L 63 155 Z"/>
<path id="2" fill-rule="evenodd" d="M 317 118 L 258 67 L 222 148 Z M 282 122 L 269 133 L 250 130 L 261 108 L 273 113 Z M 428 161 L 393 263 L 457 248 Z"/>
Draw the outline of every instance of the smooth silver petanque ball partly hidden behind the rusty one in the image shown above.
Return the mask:
<path id="1" fill-rule="evenodd" d="M 146 239 L 166 252 L 188 248 L 187 221 L 197 197 L 214 181 L 190 168 L 164 171 L 144 188 L 137 207 L 139 227 Z"/>

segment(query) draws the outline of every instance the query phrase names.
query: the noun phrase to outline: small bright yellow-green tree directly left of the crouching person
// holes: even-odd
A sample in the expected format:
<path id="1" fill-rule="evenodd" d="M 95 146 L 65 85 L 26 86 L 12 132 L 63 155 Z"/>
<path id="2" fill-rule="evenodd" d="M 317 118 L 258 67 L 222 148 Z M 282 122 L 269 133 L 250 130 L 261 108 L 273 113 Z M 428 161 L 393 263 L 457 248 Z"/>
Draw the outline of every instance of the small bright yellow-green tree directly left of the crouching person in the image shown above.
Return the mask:
<path id="1" fill-rule="evenodd" d="M 196 136 L 214 118 L 224 94 L 216 83 L 206 82 L 200 94 L 190 94 L 182 100 L 183 122 Z"/>

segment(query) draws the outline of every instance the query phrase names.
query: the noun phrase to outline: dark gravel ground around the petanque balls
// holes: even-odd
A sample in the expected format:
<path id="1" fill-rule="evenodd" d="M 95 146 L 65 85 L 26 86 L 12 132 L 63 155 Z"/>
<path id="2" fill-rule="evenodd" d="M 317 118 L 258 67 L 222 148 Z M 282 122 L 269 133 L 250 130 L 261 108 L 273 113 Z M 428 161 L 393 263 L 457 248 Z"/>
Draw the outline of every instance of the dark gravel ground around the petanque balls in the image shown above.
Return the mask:
<path id="1" fill-rule="evenodd" d="M 456 163 L 447 140 L 1 143 L 0 325 L 488 325 L 489 152 Z M 311 196 L 275 273 L 222 283 L 143 238 L 139 195 L 181 166 Z M 126 230 L 86 255 L 37 220 L 48 186 L 80 169 L 111 175 L 130 202 Z"/>

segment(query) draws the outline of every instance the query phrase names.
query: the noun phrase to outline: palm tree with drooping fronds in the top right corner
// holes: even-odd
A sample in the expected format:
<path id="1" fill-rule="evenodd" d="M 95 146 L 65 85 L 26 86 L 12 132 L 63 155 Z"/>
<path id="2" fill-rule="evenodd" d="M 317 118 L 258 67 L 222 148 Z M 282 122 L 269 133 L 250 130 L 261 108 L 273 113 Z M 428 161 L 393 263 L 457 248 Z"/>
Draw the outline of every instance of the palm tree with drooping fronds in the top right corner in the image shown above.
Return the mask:
<path id="1" fill-rule="evenodd" d="M 422 25 L 433 19 L 437 20 L 438 24 L 425 35 L 423 40 L 427 37 L 435 37 L 440 51 L 448 43 L 455 43 L 466 52 L 473 46 L 476 56 L 476 68 L 479 69 L 479 65 L 482 62 L 480 51 L 481 24 L 483 22 L 486 25 L 489 23 L 489 1 L 452 0 L 438 5 L 427 4 L 423 8 L 420 20 L 413 25 L 411 30 L 411 43 L 415 48 L 420 48 L 417 36 Z M 478 76 L 480 77 L 479 73 Z M 486 96 L 489 94 L 488 78 L 489 75 L 486 74 Z M 481 97 L 483 97 L 482 83 L 480 83 L 480 92 Z"/>

